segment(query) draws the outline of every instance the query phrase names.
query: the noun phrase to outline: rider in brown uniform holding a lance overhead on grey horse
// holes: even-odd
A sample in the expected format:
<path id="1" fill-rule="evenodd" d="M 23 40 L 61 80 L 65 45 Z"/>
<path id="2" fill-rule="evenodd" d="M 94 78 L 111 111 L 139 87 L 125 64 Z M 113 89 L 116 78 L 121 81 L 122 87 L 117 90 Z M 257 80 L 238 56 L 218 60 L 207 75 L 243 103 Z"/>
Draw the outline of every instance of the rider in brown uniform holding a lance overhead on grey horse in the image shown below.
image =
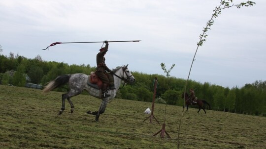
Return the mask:
<path id="1" fill-rule="evenodd" d="M 95 74 L 98 75 L 100 80 L 102 81 L 102 89 L 101 89 L 101 98 L 109 97 L 110 95 L 107 94 L 107 87 L 108 84 L 110 86 L 110 89 L 115 89 L 114 87 L 114 77 L 111 74 L 111 70 L 106 66 L 105 64 L 105 58 L 104 55 L 106 54 L 108 50 L 108 41 L 104 41 L 105 47 L 100 49 L 100 52 L 96 56 L 96 62 L 97 62 L 97 69 L 95 71 Z"/>

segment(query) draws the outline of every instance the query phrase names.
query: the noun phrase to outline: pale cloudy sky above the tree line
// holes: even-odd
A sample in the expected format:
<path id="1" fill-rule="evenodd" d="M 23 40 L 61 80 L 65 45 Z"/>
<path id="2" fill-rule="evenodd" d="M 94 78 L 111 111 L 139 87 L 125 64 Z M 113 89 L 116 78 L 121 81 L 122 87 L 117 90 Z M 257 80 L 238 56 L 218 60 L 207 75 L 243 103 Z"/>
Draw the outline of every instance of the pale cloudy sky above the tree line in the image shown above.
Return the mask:
<path id="1" fill-rule="evenodd" d="M 242 87 L 266 80 L 266 0 L 252 7 L 222 10 L 197 50 L 199 35 L 221 0 L 0 0 L 1 54 L 44 61 L 96 66 L 102 43 L 109 43 L 105 63 L 112 69 Z M 234 4 L 243 2 L 233 0 Z M 160 80 L 158 80 L 160 82 Z M 185 86 L 185 84 L 184 84 Z"/>

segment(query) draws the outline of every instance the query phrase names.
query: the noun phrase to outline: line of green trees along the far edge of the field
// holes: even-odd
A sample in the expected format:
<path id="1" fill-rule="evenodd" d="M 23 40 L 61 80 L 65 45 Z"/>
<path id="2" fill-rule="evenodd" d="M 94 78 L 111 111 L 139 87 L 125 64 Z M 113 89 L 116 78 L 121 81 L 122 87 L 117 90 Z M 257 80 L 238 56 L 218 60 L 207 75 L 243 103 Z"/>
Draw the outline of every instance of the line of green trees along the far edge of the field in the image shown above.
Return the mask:
<path id="1" fill-rule="evenodd" d="M 159 66 L 158 66 L 159 67 Z M 26 76 L 31 79 L 29 83 L 45 85 L 59 75 L 83 73 L 90 75 L 96 67 L 85 65 L 68 65 L 63 62 L 43 61 L 40 55 L 33 59 L 21 55 L 0 55 L 0 83 L 12 84 L 24 87 L 28 82 Z M 132 72 L 136 82 L 125 85 L 117 93 L 116 98 L 152 102 L 154 91 L 154 78 L 158 79 L 156 102 L 183 106 L 185 79 L 174 76 L 166 77 L 158 74 L 144 74 Z M 250 115 L 266 116 L 266 81 L 256 80 L 252 84 L 243 87 L 222 87 L 208 82 L 200 83 L 189 80 L 188 89 L 195 89 L 196 96 L 204 99 L 211 105 L 211 110 L 233 112 Z M 67 86 L 62 86 L 55 91 L 66 92 Z M 188 91 L 186 91 L 188 92 Z M 84 92 L 83 94 L 86 94 Z"/>

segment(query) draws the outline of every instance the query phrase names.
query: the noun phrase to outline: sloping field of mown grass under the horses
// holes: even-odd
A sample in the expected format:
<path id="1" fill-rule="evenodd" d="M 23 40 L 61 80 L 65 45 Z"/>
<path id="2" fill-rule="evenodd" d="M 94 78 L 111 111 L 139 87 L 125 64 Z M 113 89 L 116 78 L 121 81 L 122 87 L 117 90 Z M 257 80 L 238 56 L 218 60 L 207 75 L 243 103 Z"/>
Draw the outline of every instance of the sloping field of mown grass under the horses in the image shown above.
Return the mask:
<path id="1" fill-rule="evenodd" d="M 72 98 L 74 113 L 60 92 L 0 85 L 0 149 L 177 149 L 182 107 L 167 105 L 166 131 L 162 129 L 165 104 L 155 104 L 155 120 L 143 122 L 151 103 L 113 99 L 100 121 L 86 114 L 97 111 L 100 99 Z M 180 149 L 266 149 L 266 118 L 206 110 L 185 112 L 180 128 Z"/>

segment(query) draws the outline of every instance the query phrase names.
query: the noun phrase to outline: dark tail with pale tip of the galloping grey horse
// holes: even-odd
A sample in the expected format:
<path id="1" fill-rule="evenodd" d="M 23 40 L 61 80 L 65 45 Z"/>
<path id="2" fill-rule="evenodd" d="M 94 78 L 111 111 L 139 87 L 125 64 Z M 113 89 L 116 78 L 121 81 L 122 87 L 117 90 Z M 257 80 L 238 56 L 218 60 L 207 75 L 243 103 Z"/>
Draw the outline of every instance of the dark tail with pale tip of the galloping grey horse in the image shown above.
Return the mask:
<path id="1" fill-rule="evenodd" d="M 55 80 L 50 81 L 42 90 L 43 93 L 50 92 L 51 90 L 66 84 L 71 75 L 60 75 Z"/>

